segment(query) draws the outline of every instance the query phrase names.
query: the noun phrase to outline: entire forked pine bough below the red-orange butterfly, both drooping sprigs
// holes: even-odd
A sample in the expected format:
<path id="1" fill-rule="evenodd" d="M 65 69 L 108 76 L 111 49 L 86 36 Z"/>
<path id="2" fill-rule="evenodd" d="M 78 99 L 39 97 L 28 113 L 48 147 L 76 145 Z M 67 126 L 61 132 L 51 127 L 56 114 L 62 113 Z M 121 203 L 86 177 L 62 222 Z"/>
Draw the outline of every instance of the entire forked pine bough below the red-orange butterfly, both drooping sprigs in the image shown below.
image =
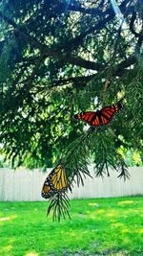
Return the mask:
<path id="1" fill-rule="evenodd" d="M 120 173 L 118 177 L 124 180 L 129 178 L 129 172 L 122 156 L 114 149 L 112 132 L 106 134 L 103 129 L 89 128 L 84 134 L 73 141 L 62 159 L 68 178 L 69 190 L 72 192 L 73 183 L 84 186 L 84 178 L 90 175 L 88 165 L 90 156 L 94 154 L 94 170 L 96 176 L 107 174 L 110 176 L 109 167 Z M 113 135 L 114 136 L 114 135 Z M 92 151 L 91 151 L 92 149 Z M 91 176 L 92 177 L 92 176 Z M 56 194 L 51 198 L 48 214 L 52 211 L 53 221 L 60 221 L 61 217 L 69 215 L 69 202 L 67 194 Z"/>

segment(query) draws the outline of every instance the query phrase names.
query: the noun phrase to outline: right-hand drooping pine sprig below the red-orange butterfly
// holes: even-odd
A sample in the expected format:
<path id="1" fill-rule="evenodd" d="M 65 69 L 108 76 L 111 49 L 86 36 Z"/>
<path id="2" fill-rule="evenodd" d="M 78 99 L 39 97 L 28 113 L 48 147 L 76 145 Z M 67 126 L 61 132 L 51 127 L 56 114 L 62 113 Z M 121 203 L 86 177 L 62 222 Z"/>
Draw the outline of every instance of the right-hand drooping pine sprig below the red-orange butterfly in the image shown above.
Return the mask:
<path id="1" fill-rule="evenodd" d="M 120 173 L 118 176 L 126 179 L 129 177 L 127 165 L 121 154 L 115 150 L 114 141 L 115 135 L 110 128 L 108 128 L 108 133 L 100 131 L 96 134 L 95 138 L 92 137 L 95 175 L 103 176 L 107 174 L 109 176 L 110 167 L 117 173 Z"/>

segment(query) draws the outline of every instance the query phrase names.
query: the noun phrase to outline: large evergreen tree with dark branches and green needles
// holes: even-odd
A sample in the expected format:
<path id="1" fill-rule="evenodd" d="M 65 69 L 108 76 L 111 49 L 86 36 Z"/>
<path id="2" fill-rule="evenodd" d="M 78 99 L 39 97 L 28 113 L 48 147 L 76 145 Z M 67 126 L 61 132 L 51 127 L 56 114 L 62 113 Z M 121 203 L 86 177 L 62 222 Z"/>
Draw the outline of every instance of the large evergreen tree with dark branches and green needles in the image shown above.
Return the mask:
<path id="1" fill-rule="evenodd" d="M 96 175 L 126 176 L 120 147 L 143 148 L 142 1 L 2 0 L 0 23 L 0 143 L 12 165 L 62 159 L 71 190 L 91 161 Z M 111 126 L 72 119 L 121 98 Z"/>

